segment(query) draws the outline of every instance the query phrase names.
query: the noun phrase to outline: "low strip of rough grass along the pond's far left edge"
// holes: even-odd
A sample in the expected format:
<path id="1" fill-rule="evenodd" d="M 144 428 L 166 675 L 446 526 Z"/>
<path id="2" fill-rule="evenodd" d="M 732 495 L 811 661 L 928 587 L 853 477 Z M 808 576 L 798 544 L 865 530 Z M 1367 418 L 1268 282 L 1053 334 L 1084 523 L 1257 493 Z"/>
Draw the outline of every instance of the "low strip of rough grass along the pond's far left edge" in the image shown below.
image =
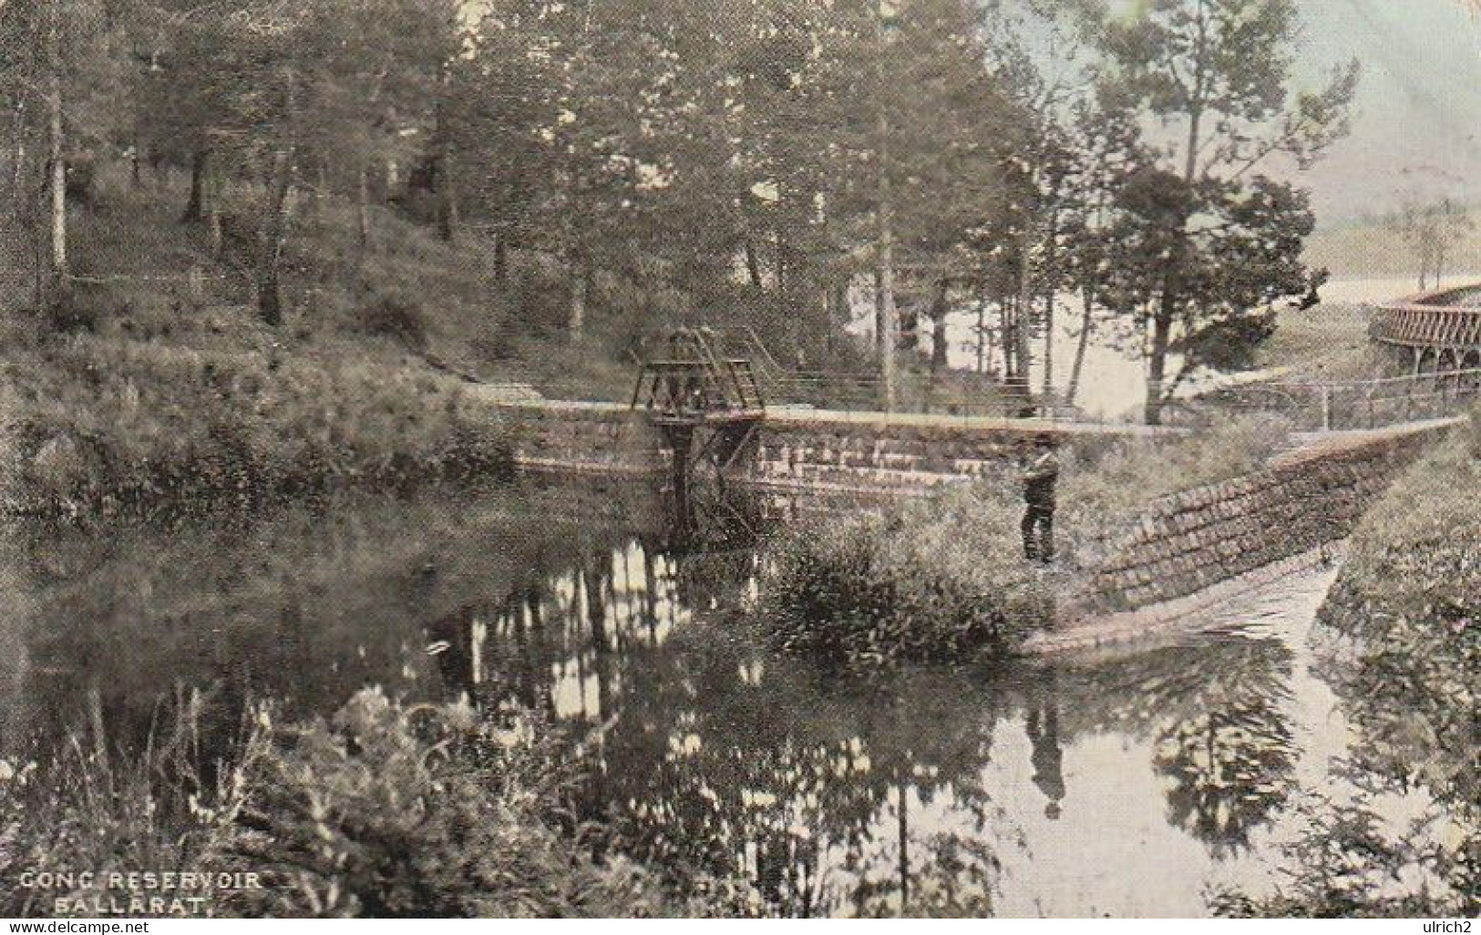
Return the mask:
<path id="1" fill-rule="evenodd" d="M 390 354 L 216 351 L 80 333 L 7 369 L 10 511 L 250 505 L 508 474 L 508 431 Z"/>

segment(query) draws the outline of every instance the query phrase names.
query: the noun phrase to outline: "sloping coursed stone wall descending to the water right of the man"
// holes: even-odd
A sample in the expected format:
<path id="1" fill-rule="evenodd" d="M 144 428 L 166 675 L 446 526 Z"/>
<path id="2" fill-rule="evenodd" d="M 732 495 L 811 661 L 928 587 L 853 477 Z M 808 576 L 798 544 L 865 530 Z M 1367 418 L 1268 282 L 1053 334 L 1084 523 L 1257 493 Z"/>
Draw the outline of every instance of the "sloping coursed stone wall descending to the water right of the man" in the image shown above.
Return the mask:
<path id="1" fill-rule="evenodd" d="M 1185 597 L 1343 539 L 1425 447 L 1423 431 L 1364 433 L 1271 468 L 1157 501 L 1111 541 L 1068 616 L 1093 618 Z M 1065 615 L 1062 615 L 1065 616 Z"/>

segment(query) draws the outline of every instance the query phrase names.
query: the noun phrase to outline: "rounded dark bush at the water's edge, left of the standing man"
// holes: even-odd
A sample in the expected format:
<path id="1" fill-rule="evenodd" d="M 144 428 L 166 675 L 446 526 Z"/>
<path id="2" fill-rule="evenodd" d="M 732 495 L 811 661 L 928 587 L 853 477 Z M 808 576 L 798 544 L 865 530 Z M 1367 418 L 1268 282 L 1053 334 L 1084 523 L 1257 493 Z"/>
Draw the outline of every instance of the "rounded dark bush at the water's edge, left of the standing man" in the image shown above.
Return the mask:
<path id="1" fill-rule="evenodd" d="M 832 664 L 1003 656 L 1053 616 L 1013 507 L 985 493 L 800 528 L 767 568 L 770 642 Z"/>

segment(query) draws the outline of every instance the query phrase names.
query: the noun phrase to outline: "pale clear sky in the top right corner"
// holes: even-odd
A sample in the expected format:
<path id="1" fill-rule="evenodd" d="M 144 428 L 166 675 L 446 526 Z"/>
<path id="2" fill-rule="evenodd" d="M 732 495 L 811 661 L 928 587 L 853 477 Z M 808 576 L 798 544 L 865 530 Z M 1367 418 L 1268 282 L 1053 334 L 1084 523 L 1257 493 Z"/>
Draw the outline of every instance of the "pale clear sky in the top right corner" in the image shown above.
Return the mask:
<path id="1" fill-rule="evenodd" d="M 1405 197 L 1481 204 L 1481 18 L 1460 0 L 1297 0 L 1300 76 L 1363 62 L 1352 133 L 1306 173 L 1323 227 Z"/>

